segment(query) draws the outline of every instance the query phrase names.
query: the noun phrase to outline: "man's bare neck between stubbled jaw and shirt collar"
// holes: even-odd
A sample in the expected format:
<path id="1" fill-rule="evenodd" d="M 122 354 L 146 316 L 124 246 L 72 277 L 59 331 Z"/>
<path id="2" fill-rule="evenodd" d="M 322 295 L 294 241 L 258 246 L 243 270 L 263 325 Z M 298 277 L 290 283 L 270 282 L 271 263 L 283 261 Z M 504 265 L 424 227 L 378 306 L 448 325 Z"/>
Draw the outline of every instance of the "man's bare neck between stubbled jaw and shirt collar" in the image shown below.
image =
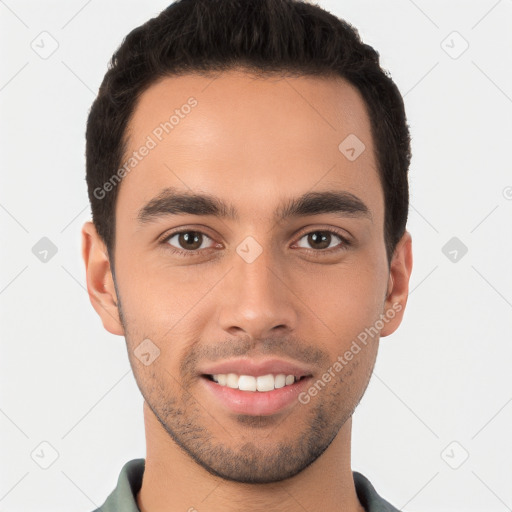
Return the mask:
<path id="1" fill-rule="evenodd" d="M 198 465 L 144 402 L 146 464 L 137 494 L 141 512 L 364 512 L 350 465 L 352 419 L 324 453 L 294 477 L 269 484 L 224 480 Z"/>

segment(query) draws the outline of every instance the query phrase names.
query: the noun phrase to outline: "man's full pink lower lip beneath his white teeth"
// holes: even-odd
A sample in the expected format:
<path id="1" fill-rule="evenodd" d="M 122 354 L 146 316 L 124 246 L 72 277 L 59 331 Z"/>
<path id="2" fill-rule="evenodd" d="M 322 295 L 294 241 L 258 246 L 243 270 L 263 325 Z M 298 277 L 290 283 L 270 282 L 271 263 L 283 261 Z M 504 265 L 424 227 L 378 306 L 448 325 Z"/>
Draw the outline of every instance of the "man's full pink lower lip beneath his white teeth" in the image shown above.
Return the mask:
<path id="1" fill-rule="evenodd" d="M 260 392 L 240 391 L 228 386 L 221 386 L 207 377 L 201 377 L 207 392 L 222 406 L 238 414 L 257 416 L 276 414 L 297 402 L 298 395 L 309 386 L 310 380 L 311 377 L 305 377 L 290 386 Z"/>

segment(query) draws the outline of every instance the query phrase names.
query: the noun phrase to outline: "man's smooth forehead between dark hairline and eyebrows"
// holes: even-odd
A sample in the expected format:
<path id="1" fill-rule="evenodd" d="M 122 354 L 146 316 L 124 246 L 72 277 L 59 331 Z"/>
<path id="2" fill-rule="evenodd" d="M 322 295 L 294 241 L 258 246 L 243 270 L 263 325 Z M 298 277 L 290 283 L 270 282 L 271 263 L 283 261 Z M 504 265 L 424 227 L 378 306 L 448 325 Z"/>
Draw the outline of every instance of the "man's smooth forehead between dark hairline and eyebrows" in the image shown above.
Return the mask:
<path id="1" fill-rule="evenodd" d="M 339 78 L 166 77 L 139 98 L 127 136 L 122 164 L 133 165 L 116 210 L 133 219 L 167 187 L 230 198 L 259 218 L 283 195 L 333 188 L 382 214 L 366 106 Z"/>

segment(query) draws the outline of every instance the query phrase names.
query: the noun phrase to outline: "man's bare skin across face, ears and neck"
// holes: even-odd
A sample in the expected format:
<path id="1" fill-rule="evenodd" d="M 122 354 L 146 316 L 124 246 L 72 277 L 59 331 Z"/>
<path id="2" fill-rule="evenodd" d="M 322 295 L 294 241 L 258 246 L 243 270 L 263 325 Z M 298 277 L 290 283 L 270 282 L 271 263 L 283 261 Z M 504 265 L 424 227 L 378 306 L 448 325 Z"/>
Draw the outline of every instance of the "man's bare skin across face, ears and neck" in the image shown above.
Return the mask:
<path id="1" fill-rule="evenodd" d="M 141 96 L 128 153 L 190 96 L 197 107 L 120 185 L 115 282 L 94 225 L 82 229 L 91 303 L 105 329 L 125 337 L 145 399 L 138 506 L 362 512 L 351 471 L 351 418 L 379 338 L 402 321 L 412 271 L 407 231 L 388 266 L 384 195 L 365 104 L 334 78 L 256 79 L 242 70 L 215 79 L 165 78 Z M 366 146 L 355 161 L 338 149 L 351 133 Z M 142 206 L 170 186 L 219 196 L 239 220 L 167 215 L 140 224 Z M 355 194 L 371 219 L 327 213 L 274 220 L 284 200 L 324 190 Z M 172 252 L 191 247 L 179 236 L 161 241 L 183 227 L 205 235 L 191 257 Z M 333 229 L 351 245 L 321 256 L 325 246 L 307 235 Z M 252 263 L 236 252 L 247 236 L 262 248 Z M 343 242 L 334 234 L 327 245 Z M 297 360 L 316 381 L 393 304 L 400 311 L 308 404 L 237 415 L 212 400 L 197 375 L 217 349 L 221 359 Z M 148 366 L 134 353 L 147 338 L 160 350 Z"/>

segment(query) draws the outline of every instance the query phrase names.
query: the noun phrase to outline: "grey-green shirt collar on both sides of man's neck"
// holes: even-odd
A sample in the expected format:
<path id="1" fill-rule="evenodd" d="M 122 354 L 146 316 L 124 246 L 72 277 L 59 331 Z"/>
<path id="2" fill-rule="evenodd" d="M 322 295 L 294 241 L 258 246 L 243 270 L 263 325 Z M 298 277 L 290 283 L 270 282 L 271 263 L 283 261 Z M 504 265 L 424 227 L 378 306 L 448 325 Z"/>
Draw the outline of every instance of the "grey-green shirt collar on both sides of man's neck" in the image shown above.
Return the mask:
<path id="1" fill-rule="evenodd" d="M 145 459 L 133 459 L 121 469 L 117 487 L 105 503 L 94 512 L 140 512 L 136 496 L 142 486 Z M 400 512 L 381 498 L 370 481 L 361 473 L 352 471 L 357 497 L 366 512 Z"/>

